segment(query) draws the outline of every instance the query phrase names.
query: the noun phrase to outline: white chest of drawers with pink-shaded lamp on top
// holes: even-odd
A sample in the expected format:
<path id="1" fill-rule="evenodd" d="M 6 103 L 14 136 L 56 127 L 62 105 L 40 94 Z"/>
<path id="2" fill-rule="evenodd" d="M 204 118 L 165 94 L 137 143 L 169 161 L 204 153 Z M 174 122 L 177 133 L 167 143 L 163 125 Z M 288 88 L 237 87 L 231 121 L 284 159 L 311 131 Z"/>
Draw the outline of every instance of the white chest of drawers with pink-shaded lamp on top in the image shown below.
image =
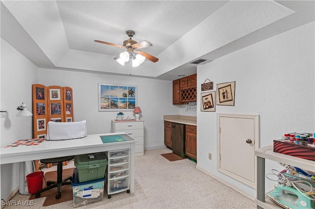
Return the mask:
<path id="1" fill-rule="evenodd" d="M 112 133 L 125 132 L 133 139 L 135 156 L 144 155 L 144 120 L 112 120 Z"/>

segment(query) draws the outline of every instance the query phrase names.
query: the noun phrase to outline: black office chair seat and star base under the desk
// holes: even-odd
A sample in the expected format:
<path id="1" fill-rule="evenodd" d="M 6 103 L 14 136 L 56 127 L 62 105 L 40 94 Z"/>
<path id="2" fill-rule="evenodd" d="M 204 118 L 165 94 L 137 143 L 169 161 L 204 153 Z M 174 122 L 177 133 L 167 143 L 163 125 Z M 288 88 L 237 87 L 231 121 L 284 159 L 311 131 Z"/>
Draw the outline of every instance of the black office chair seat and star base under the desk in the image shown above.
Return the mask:
<path id="1" fill-rule="evenodd" d="M 63 185 L 71 184 L 71 180 L 72 180 L 72 176 L 63 179 L 63 162 L 71 160 L 73 158 L 74 158 L 74 155 L 66 156 L 66 157 L 47 158 L 47 159 L 40 160 L 41 163 L 58 163 L 57 164 L 57 181 L 51 181 L 51 180 L 47 181 L 46 182 L 47 187 L 37 191 L 35 193 L 35 198 L 40 197 L 40 193 L 47 191 L 49 189 L 55 188 L 55 187 L 58 187 L 56 199 L 59 199 L 61 197 L 61 187 Z"/>

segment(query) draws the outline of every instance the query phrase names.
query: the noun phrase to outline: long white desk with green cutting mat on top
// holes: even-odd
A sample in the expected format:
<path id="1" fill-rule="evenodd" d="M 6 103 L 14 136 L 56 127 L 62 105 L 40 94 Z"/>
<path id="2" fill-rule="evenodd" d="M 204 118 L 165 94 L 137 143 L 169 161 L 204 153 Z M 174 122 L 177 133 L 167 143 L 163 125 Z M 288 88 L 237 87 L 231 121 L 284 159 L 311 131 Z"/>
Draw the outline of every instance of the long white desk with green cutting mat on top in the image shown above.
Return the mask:
<path id="1" fill-rule="evenodd" d="M 121 135 L 125 142 L 104 143 L 100 136 Z M 77 154 L 87 154 L 117 149 L 130 149 L 130 193 L 134 192 L 134 151 L 137 140 L 126 133 L 92 134 L 82 139 L 44 141 L 40 145 L 1 148 L 0 164 L 19 162 L 20 193 L 24 194 L 25 161 Z"/>

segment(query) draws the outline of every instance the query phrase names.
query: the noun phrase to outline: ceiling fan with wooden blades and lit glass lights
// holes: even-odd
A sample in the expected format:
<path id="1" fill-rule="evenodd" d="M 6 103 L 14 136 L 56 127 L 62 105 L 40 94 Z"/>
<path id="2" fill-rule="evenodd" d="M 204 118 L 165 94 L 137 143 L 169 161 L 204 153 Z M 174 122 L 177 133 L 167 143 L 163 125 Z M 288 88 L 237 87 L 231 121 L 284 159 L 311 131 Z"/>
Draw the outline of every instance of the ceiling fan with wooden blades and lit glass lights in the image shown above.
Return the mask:
<path id="1" fill-rule="evenodd" d="M 153 61 L 153 62 L 158 61 L 158 58 L 156 58 L 152 55 L 149 55 L 146 52 L 139 50 L 142 48 L 152 46 L 152 44 L 150 42 L 140 41 L 139 43 L 137 43 L 135 40 L 131 39 L 134 35 L 133 30 L 127 30 L 126 33 L 129 36 L 129 39 L 125 40 L 123 45 L 108 43 L 108 42 L 99 41 L 99 40 L 94 40 L 94 41 L 97 43 L 101 43 L 101 44 L 107 44 L 110 46 L 125 48 L 126 49 L 125 52 L 122 52 L 120 55 L 118 55 L 117 57 L 114 58 L 121 65 L 125 65 L 125 62 L 127 62 L 129 60 L 132 61 L 133 67 L 139 66 L 145 59 L 148 59 L 148 60 Z"/>

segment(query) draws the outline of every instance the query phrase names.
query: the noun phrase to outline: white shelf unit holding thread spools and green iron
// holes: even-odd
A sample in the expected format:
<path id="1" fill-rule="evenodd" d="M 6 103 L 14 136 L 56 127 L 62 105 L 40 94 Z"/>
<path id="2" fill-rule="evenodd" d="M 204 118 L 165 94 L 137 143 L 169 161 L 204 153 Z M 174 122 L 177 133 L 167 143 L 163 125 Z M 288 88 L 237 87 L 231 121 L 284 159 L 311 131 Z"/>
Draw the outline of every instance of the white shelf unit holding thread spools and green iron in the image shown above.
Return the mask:
<path id="1" fill-rule="evenodd" d="M 282 209 L 265 194 L 265 159 L 292 165 L 308 171 L 315 171 L 315 161 L 306 160 L 273 151 L 273 145 L 255 150 L 257 156 L 257 209 Z"/>

